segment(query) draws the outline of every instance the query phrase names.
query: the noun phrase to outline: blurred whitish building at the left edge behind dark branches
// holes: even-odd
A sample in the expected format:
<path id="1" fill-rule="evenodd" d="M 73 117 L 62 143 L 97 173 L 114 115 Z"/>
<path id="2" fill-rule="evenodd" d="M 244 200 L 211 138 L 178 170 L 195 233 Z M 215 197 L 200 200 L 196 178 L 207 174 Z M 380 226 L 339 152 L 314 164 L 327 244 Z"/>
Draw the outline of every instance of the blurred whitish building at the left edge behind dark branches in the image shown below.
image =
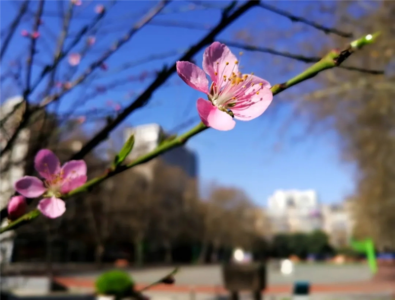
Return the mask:
<path id="1" fill-rule="evenodd" d="M 16 96 L 7 99 L 0 108 L 1 119 L 13 112 L 14 107 L 21 103 L 22 97 Z M 4 123 L 1 128 L 0 147 L 3 149 L 7 144 L 9 138 L 15 132 L 16 127 L 21 121 L 22 113 L 25 107 L 22 105 L 18 108 Z M 5 208 L 8 204 L 9 198 L 14 194 L 13 188 L 15 181 L 24 176 L 25 172 L 25 158 L 29 149 L 30 131 L 25 128 L 22 129 L 11 150 L 0 159 L 0 207 Z M 1 226 L 6 225 L 5 220 Z M 0 263 L 8 263 L 11 260 L 13 249 L 13 231 L 7 231 L 0 236 Z"/>

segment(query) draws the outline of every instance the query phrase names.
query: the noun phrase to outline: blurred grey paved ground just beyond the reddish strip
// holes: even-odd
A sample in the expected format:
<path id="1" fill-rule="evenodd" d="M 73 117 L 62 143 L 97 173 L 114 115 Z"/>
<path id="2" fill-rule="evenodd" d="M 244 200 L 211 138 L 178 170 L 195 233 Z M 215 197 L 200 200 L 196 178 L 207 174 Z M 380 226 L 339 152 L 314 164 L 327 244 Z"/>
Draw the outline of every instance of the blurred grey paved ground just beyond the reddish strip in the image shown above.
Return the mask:
<path id="1" fill-rule="evenodd" d="M 136 282 L 150 283 L 171 271 L 171 267 L 147 268 L 130 272 Z M 100 272 L 75 274 L 76 277 L 95 278 Z M 366 264 L 324 265 L 299 264 L 295 265 L 294 273 L 283 276 L 278 270 L 269 268 L 268 283 L 292 284 L 297 280 L 307 280 L 312 284 L 348 283 L 367 281 L 372 277 Z M 183 266 L 176 276 L 177 284 L 182 285 L 222 285 L 221 266 Z"/>

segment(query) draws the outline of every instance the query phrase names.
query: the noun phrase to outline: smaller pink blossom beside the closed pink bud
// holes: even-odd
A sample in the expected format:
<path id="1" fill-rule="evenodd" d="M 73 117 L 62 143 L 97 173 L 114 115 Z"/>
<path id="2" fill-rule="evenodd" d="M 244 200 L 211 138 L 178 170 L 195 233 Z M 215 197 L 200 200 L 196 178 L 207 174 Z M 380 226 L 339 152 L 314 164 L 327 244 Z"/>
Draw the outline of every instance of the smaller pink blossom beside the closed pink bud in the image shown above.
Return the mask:
<path id="1" fill-rule="evenodd" d="M 34 160 L 36 171 L 43 178 L 24 176 L 14 188 L 27 198 L 36 198 L 44 194 L 38 209 L 51 219 L 58 218 L 66 211 L 65 202 L 60 199 L 86 182 L 86 163 L 83 160 L 71 160 L 60 166 L 59 158 L 48 149 L 40 150 Z"/>

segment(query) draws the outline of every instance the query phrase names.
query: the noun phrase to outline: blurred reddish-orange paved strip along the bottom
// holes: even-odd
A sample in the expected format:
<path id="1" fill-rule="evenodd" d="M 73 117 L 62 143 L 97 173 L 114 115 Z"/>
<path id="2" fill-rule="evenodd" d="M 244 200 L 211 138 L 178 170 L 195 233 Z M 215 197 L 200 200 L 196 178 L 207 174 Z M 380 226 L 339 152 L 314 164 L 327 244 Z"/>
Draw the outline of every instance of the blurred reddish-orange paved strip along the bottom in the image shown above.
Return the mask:
<path id="1" fill-rule="evenodd" d="M 55 280 L 69 288 L 83 288 L 93 289 L 94 281 L 85 278 L 73 277 L 56 277 Z M 137 289 L 145 287 L 146 284 L 138 284 Z M 169 293 L 203 293 L 203 294 L 216 294 L 227 295 L 228 292 L 222 286 L 207 286 L 207 285 L 158 285 L 150 289 L 155 292 L 169 292 Z M 270 285 L 265 294 L 291 294 L 291 285 Z M 314 284 L 311 287 L 311 293 L 391 293 L 395 296 L 394 283 L 376 283 L 376 282 L 358 282 L 358 283 L 343 283 L 343 284 Z M 394 297 L 395 298 L 395 297 Z"/>

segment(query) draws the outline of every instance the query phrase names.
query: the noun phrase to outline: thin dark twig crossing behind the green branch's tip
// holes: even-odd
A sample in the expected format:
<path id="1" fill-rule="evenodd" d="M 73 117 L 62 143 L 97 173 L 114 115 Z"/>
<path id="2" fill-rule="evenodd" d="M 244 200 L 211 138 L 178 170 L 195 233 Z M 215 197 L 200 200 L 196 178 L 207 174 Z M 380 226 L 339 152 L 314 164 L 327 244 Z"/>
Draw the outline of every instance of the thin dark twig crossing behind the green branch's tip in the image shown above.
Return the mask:
<path id="1" fill-rule="evenodd" d="M 290 52 L 280 52 L 275 49 L 271 49 L 271 48 L 267 48 L 267 47 L 246 45 L 246 44 L 232 42 L 232 41 L 221 41 L 221 42 L 225 43 L 228 46 L 240 48 L 240 49 L 243 49 L 246 51 L 269 53 L 269 54 L 273 54 L 273 55 L 277 55 L 277 56 L 291 58 L 291 59 L 298 60 L 298 61 L 301 61 L 304 63 L 317 63 L 321 60 L 321 58 L 318 56 L 304 56 L 304 55 L 300 55 L 300 54 L 292 54 Z M 352 66 L 343 66 L 343 65 L 340 65 L 339 68 L 345 69 L 345 70 L 350 70 L 350 71 L 358 71 L 361 73 L 374 74 L 374 75 L 383 75 L 384 74 L 384 71 L 382 71 L 382 70 L 368 70 L 368 69 L 352 67 Z"/>

